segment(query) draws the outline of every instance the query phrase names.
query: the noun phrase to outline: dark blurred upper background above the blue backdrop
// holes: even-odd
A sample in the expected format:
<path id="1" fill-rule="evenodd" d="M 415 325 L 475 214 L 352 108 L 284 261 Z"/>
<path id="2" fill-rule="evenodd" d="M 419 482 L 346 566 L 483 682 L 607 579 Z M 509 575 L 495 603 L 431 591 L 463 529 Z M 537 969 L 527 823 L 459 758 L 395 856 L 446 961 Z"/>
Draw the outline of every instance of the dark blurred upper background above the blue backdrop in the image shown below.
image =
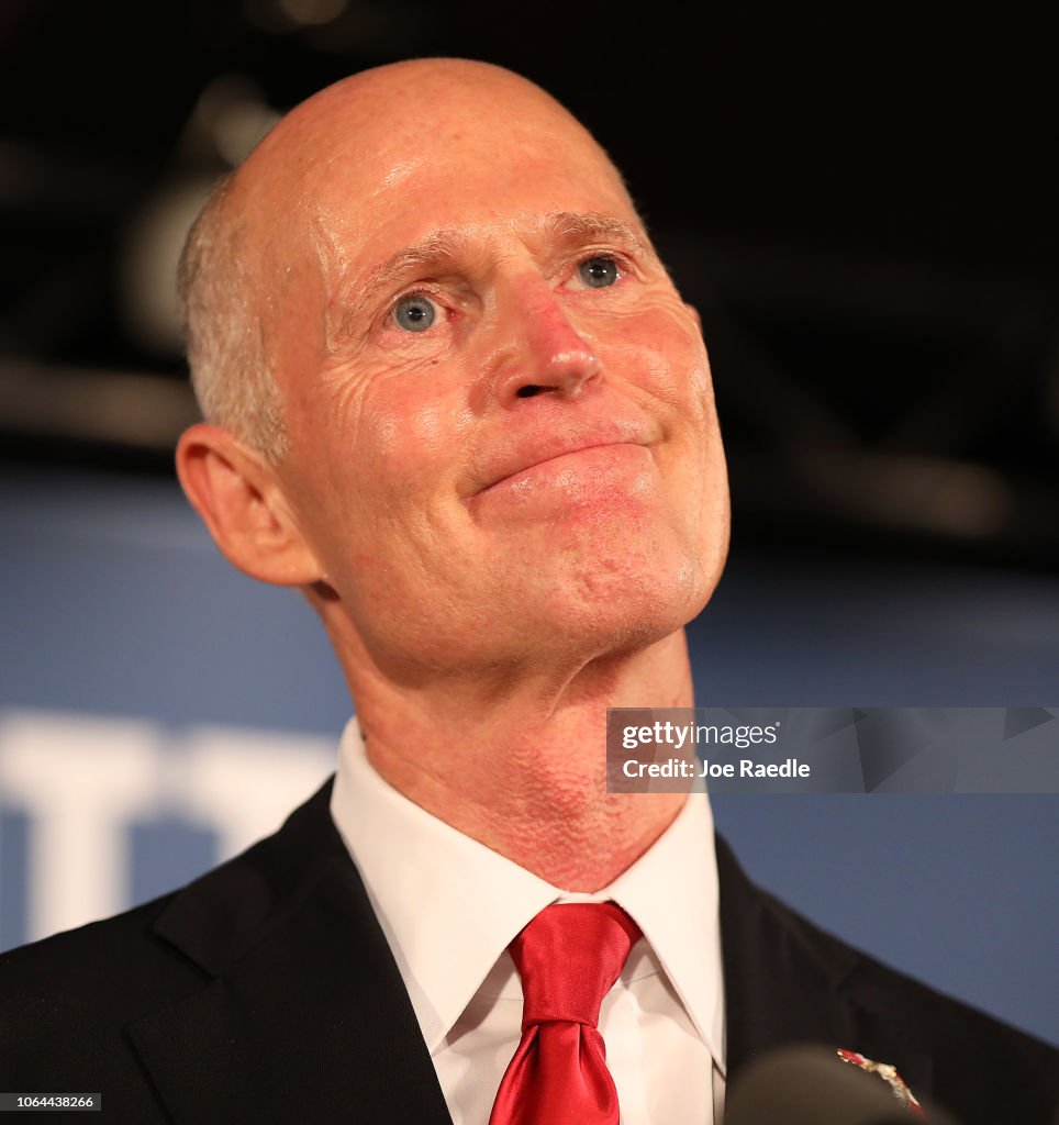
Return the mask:
<path id="1" fill-rule="evenodd" d="M 194 411 L 171 323 L 142 323 L 145 300 L 168 299 L 168 263 L 145 281 L 137 255 L 160 230 L 176 245 L 183 200 L 267 107 L 365 66 L 459 54 L 540 82 L 625 171 L 703 315 L 737 546 L 1053 573 L 1059 183 L 1043 24 L 1012 8 L 630 11 L 7 0 L 7 467 L 170 475 Z"/>

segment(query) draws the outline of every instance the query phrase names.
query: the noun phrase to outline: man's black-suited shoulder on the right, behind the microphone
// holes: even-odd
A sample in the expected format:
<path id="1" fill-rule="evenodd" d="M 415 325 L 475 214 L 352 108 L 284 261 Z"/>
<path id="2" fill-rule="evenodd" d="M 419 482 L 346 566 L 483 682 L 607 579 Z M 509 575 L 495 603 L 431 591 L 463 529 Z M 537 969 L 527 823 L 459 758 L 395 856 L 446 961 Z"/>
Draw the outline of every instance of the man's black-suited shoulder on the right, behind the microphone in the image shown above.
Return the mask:
<path id="1" fill-rule="evenodd" d="M 720 839 L 718 866 L 729 1046 L 741 1061 L 811 1040 L 896 1064 L 968 1122 L 1005 1106 L 1048 1119 L 1059 1050 L 810 921 L 755 886 Z"/>

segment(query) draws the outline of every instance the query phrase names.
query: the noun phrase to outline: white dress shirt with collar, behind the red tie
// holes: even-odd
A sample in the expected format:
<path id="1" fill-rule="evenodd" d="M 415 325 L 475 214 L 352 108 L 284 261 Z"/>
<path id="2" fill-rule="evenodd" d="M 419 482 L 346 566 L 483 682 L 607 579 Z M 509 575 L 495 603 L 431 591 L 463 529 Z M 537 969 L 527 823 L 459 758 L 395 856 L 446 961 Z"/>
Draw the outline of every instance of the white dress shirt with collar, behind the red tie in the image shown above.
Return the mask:
<path id="1" fill-rule="evenodd" d="M 622 1125 L 720 1120 L 724 983 L 704 794 L 689 796 L 609 886 L 566 893 L 387 784 L 351 720 L 331 816 L 393 951 L 456 1125 L 486 1125 L 521 1038 L 512 938 L 553 902 L 608 900 L 644 934 L 600 1012 Z"/>

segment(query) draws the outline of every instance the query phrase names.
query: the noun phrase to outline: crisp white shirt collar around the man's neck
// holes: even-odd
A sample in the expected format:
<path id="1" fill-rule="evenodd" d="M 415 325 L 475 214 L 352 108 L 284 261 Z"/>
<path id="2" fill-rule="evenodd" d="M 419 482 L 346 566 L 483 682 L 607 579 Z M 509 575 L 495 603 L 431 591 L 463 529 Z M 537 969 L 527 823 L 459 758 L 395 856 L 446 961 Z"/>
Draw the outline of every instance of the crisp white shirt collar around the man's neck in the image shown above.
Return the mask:
<path id="1" fill-rule="evenodd" d="M 431 1053 L 535 915 L 559 899 L 613 899 L 644 932 L 723 1068 L 717 863 L 704 794 L 692 794 L 654 845 L 592 896 L 565 894 L 403 796 L 368 762 L 356 720 L 342 735 L 331 816 Z"/>

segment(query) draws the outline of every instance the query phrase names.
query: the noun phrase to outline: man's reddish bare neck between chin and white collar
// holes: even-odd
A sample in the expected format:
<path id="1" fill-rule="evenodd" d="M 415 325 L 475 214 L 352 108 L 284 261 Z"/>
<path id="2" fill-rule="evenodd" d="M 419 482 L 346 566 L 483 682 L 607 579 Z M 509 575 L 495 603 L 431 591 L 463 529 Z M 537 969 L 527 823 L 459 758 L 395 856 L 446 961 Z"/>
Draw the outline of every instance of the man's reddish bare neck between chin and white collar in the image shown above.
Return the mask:
<path id="1" fill-rule="evenodd" d="M 560 677 L 396 686 L 350 676 L 368 759 L 396 790 L 567 891 L 598 891 L 684 795 L 608 793 L 607 708 L 691 706 L 683 630 Z"/>

